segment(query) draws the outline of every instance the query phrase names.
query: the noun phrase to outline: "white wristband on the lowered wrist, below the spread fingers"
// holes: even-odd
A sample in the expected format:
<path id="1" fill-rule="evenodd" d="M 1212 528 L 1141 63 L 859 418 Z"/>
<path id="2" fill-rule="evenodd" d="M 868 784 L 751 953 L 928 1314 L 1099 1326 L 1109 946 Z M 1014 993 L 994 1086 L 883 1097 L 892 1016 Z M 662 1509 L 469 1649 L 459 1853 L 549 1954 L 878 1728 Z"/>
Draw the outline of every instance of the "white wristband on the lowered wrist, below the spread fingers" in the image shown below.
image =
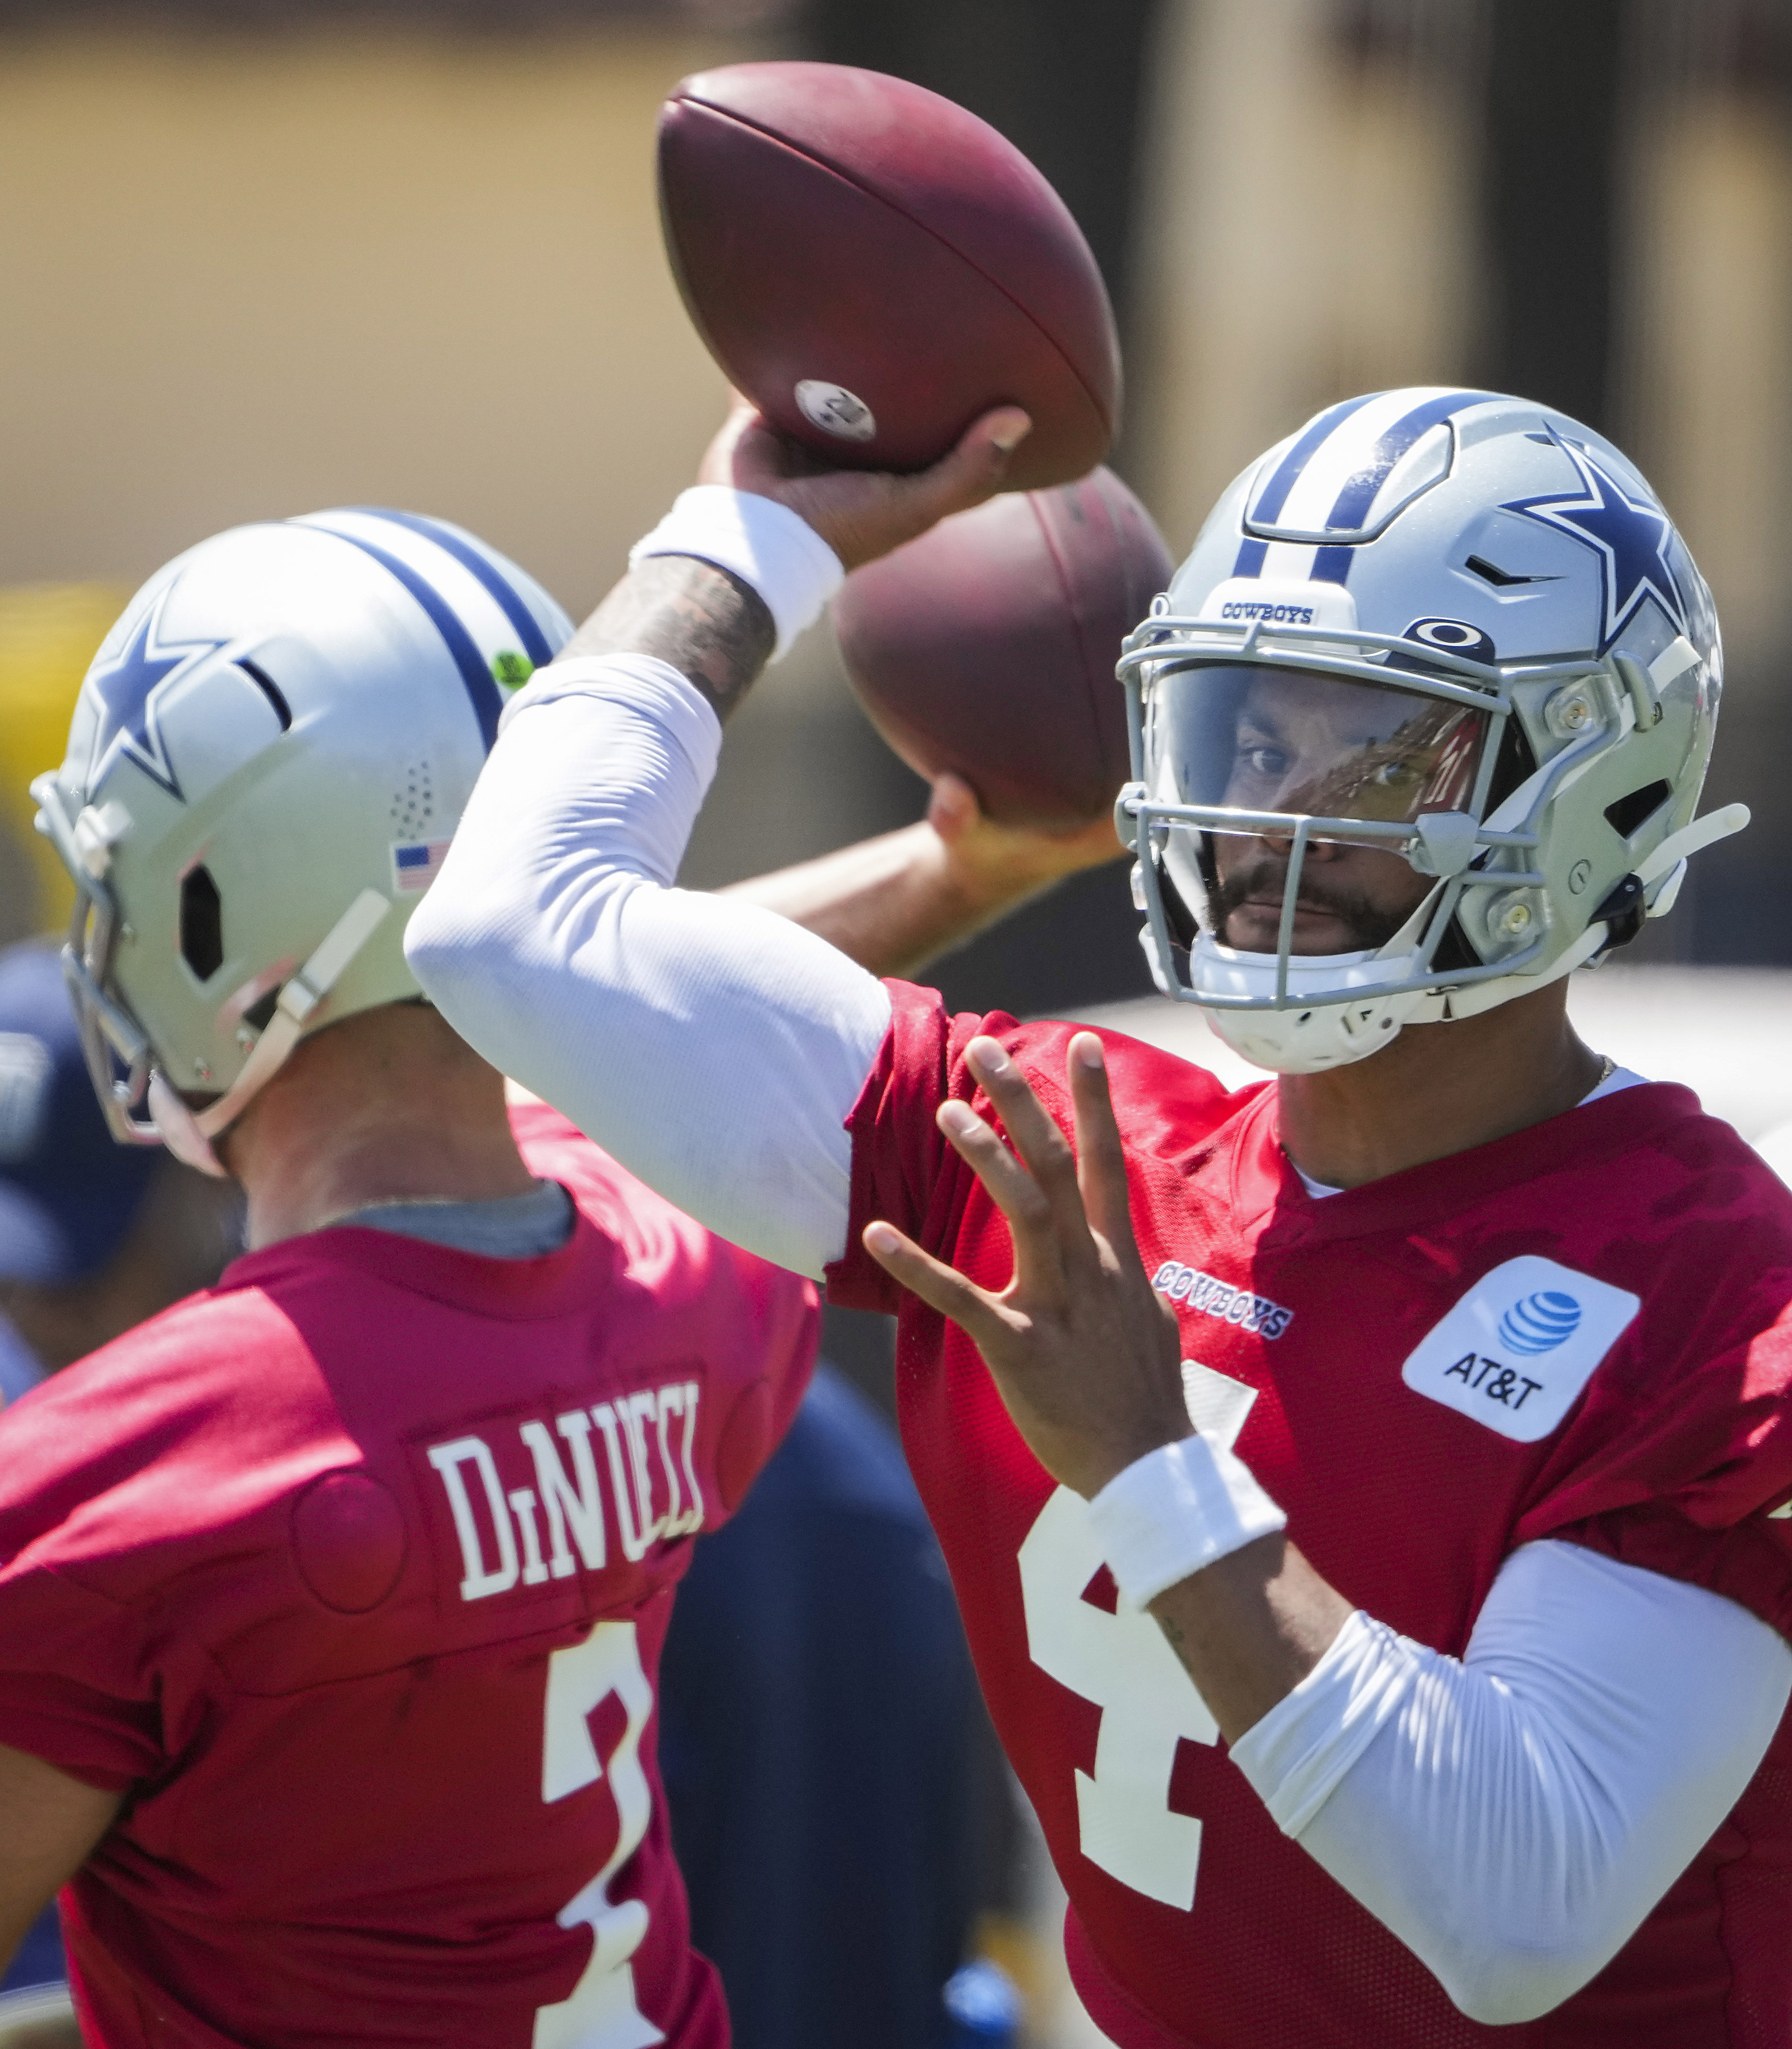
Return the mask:
<path id="1" fill-rule="evenodd" d="M 1090 1527 L 1120 1588 L 1143 1608 L 1214 1559 L 1288 1527 L 1243 1459 L 1210 1436 L 1135 1459 L 1090 1502 Z"/>

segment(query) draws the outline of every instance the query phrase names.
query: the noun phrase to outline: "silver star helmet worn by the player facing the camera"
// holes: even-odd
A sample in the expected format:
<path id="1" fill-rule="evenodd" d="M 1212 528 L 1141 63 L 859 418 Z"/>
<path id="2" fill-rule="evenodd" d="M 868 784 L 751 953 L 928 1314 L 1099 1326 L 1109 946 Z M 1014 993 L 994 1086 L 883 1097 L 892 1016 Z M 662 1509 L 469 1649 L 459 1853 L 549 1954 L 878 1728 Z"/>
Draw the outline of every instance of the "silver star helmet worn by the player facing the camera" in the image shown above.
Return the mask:
<path id="1" fill-rule="evenodd" d="M 1608 441 L 1516 398 L 1319 414 L 1120 676 L 1157 986 L 1282 1074 L 1597 961 L 1749 818 L 1694 822 L 1722 652 L 1692 555 Z"/>

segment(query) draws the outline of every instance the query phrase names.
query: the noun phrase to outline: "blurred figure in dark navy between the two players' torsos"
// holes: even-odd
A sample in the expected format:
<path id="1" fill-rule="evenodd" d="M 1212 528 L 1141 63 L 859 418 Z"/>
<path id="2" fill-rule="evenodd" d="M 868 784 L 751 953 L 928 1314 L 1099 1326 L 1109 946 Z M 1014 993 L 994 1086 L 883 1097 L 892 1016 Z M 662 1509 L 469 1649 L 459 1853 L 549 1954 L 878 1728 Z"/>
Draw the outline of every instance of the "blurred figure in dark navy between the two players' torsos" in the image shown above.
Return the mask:
<path id="1" fill-rule="evenodd" d="M 825 1361 L 659 1668 L 690 1934 L 737 2049 L 928 2049 L 985 1877 L 977 1682 L 895 1434 Z M 993 1748 L 993 1746 L 991 1746 Z"/>

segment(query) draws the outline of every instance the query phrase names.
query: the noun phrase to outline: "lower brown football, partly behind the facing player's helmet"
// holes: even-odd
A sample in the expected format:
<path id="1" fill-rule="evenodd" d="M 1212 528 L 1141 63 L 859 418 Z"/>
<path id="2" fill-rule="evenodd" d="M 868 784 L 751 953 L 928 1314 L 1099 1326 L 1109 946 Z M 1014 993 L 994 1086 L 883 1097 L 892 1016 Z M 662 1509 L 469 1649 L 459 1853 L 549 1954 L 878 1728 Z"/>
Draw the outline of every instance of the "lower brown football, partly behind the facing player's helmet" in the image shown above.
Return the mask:
<path id="1" fill-rule="evenodd" d="M 1110 471 L 991 498 L 848 576 L 846 674 L 924 777 L 963 775 L 1008 824 L 1098 818 L 1126 781 L 1120 641 L 1169 549 Z"/>

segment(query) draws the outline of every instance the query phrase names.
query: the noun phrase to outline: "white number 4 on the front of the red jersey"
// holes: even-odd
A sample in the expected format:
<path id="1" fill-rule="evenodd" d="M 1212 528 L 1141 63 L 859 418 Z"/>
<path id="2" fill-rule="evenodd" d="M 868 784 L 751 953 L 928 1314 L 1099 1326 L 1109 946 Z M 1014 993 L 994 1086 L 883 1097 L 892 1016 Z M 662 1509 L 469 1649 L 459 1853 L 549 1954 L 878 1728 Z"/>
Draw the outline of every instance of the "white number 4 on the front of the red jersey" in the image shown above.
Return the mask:
<path id="1" fill-rule="evenodd" d="M 1182 1367 L 1194 1422 L 1227 1445 L 1253 1391 L 1194 1361 Z M 1104 1559 L 1090 1504 L 1059 1488 L 1020 1547 L 1020 1596 L 1032 1662 L 1102 1709 L 1096 1776 L 1077 1770 L 1081 1852 L 1165 1906 L 1194 1906 L 1200 1822 L 1169 1807 L 1176 1746 L 1212 1744 L 1219 1727 L 1149 1615 L 1108 1615 L 1083 1600 Z"/>

